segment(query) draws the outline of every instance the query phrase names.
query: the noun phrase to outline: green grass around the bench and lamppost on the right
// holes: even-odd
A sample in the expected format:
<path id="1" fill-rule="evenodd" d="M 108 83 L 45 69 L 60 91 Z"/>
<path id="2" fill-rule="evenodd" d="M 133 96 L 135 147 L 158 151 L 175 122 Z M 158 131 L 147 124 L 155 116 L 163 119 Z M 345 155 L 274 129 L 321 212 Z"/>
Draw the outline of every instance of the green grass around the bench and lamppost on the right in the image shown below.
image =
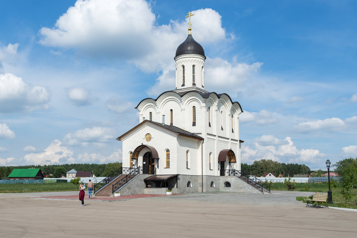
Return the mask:
<path id="1" fill-rule="evenodd" d="M 286 185 L 284 183 L 272 183 L 271 190 L 281 190 L 286 191 Z M 291 191 L 303 191 L 303 192 L 316 192 L 316 193 L 327 193 L 328 183 L 296 183 L 295 189 Z M 341 194 L 340 184 L 337 183 L 336 188 L 331 188 L 332 191 L 332 202 L 333 204 L 328 204 L 329 207 L 343 207 L 357 209 L 357 189 L 353 189 L 354 198 L 346 201 Z M 296 200 L 306 202 L 307 197 L 297 197 Z"/>

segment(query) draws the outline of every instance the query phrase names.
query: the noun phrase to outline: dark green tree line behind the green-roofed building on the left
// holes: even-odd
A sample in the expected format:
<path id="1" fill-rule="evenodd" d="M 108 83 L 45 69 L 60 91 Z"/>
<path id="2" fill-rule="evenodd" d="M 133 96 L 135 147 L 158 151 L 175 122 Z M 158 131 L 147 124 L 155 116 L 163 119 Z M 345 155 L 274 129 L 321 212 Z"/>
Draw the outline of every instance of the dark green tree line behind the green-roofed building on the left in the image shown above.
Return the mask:
<path id="1" fill-rule="evenodd" d="M 22 166 L 2 166 L 0 167 L 0 178 L 9 176 L 13 169 L 41 169 L 46 175 L 53 174 L 54 178 L 61 175 L 66 176 L 66 172 L 75 169 L 77 171 L 92 171 L 96 177 L 106 177 L 115 170 L 122 167 L 122 163 L 113 162 L 108 164 L 51 164 L 51 165 L 22 165 Z"/>

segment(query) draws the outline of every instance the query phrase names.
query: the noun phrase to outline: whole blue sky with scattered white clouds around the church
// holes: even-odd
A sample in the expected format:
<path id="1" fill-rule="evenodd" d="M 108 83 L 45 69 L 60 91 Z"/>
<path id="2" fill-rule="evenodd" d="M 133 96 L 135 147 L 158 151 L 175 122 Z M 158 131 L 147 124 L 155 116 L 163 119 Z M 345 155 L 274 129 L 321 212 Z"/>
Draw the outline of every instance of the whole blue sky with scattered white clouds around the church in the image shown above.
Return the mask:
<path id="1" fill-rule="evenodd" d="M 357 157 L 354 1 L 0 0 L 0 165 L 122 160 L 134 107 L 175 87 L 192 36 L 238 101 L 242 163 Z"/>

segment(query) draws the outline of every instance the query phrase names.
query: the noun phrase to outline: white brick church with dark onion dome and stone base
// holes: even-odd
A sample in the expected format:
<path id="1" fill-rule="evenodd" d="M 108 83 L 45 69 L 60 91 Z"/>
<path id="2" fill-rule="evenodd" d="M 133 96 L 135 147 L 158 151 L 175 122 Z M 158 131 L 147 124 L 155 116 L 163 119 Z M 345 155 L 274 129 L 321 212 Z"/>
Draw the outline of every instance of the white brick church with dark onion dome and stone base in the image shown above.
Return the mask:
<path id="1" fill-rule="evenodd" d="M 225 176 L 241 169 L 243 111 L 229 95 L 205 90 L 206 56 L 191 28 L 174 60 L 174 90 L 140 101 L 139 124 L 117 138 L 122 142 L 122 167 L 140 168 L 142 175 L 135 179 L 136 185 L 130 182 L 119 192 L 156 193 L 153 188 L 169 188 L 172 193 L 256 192 L 242 179 Z"/>

